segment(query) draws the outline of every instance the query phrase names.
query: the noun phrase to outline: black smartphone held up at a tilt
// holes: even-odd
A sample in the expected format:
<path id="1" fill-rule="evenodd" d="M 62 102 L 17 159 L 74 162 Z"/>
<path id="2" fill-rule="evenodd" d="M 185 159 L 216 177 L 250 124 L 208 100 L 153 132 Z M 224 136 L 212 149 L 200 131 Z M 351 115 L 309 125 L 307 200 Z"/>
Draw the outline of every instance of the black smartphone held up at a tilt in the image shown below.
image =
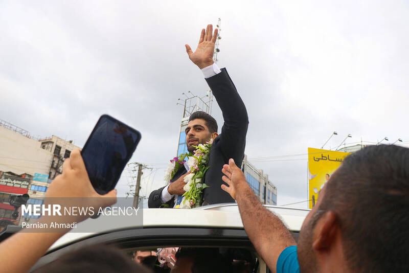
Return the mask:
<path id="1" fill-rule="evenodd" d="M 89 180 L 99 194 L 118 183 L 141 140 L 141 133 L 108 115 L 102 115 L 81 151 Z"/>

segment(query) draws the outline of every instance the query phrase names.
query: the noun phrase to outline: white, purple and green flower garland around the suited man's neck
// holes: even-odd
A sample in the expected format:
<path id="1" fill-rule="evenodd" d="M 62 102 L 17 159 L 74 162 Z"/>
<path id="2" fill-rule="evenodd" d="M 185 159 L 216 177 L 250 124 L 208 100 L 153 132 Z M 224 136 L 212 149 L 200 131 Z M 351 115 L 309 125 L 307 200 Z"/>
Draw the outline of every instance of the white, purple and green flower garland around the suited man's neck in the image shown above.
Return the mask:
<path id="1" fill-rule="evenodd" d="M 193 146 L 196 150 L 192 156 L 188 154 L 180 155 L 179 157 L 174 157 L 170 161 L 168 169 L 165 171 L 165 180 L 170 182 L 173 175 L 180 169 L 181 166 L 185 164 L 185 157 L 188 156 L 188 161 L 186 164 L 190 168 L 190 173 L 185 176 L 185 187 L 183 188 L 186 192 L 183 194 L 183 200 L 180 205 L 175 208 L 180 209 L 191 209 L 200 207 L 202 200 L 203 189 L 209 186 L 202 183 L 202 178 L 205 176 L 206 171 L 209 169 L 207 166 L 209 162 L 210 148 L 213 144 L 213 138 L 210 139 L 205 144 L 199 144 L 198 146 Z"/>

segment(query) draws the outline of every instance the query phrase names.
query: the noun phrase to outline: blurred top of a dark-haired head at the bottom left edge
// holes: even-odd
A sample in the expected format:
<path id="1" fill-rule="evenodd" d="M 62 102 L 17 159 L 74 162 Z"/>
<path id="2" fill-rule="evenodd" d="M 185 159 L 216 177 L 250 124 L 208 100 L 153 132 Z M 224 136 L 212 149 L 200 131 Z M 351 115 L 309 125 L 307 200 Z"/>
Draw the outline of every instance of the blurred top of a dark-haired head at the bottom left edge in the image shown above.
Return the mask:
<path id="1" fill-rule="evenodd" d="M 132 261 L 132 258 L 125 255 L 119 249 L 97 245 L 84 247 L 78 251 L 64 254 L 55 261 L 46 264 L 33 271 L 34 273 L 121 273 L 121 272 L 141 272 L 153 273 L 147 267 Z"/>

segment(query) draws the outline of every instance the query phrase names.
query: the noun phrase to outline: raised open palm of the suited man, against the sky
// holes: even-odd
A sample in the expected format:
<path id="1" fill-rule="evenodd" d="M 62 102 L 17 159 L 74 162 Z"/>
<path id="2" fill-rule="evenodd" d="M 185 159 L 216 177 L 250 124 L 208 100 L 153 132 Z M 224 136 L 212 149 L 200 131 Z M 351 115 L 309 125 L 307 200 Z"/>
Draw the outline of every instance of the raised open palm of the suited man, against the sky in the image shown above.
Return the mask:
<path id="1" fill-rule="evenodd" d="M 195 52 L 192 51 L 189 44 L 185 44 L 186 51 L 189 55 L 189 59 L 199 66 L 199 69 L 203 69 L 206 66 L 212 65 L 213 61 L 213 52 L 214 52 L 214 44 L 217 38 L 217 29 L 214 30 L 213 33 L 213 26 L 208 25 L 205 29 L 201 30 L 199 44 L 197 45 L 197 49 Z M 213 34 L 213 35 L 212 35 Z"/>

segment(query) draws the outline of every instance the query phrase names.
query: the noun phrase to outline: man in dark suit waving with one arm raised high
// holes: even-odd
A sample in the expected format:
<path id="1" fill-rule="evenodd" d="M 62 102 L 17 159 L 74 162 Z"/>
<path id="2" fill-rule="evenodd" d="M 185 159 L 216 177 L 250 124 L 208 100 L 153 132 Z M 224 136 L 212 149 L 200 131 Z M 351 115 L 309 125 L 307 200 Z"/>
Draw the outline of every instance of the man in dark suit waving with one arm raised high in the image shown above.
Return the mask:
<path id="1" fill-rule="evenodd" d="M 193 146 L 205 144 L 210 138 L 214 138 L 209 154 L 208 166 L 210 168 L 203 178 L 203 182 L 209 186 L 203 190 L 203 205 L 234 202 L 234 199 L 220 188 L 223 184 L 221 169 L 229 162 L 229 158 L 234 158 L 235 162 L 241 165 L 248 127 L 247 111 L 236 87 L 227 71 L 220 70 L 213 61 L 217 29 L 213 35 L 212 33 L 212 25 L 208 25 L 206 31 L 202 29 L 195 52 L 188 44 L 185 45 L 190 60 L 205 75 L 224 119 L 220 135 L 217 133 L 216 120 L 202 111 L 194 112 L 190 116 L 186 128 L 186 143 L 191 153 L 195 150 Z M 177 196 L 185 193 L 183 187 L 186 185 L 184 181 L 186 175 L 186 169 L 181 167 L 172 177 L 171 184 L 151 192 L 148 207 L 159 208 L 166 203 L 168 205 L 166 207 L 173 208 Z"/>

